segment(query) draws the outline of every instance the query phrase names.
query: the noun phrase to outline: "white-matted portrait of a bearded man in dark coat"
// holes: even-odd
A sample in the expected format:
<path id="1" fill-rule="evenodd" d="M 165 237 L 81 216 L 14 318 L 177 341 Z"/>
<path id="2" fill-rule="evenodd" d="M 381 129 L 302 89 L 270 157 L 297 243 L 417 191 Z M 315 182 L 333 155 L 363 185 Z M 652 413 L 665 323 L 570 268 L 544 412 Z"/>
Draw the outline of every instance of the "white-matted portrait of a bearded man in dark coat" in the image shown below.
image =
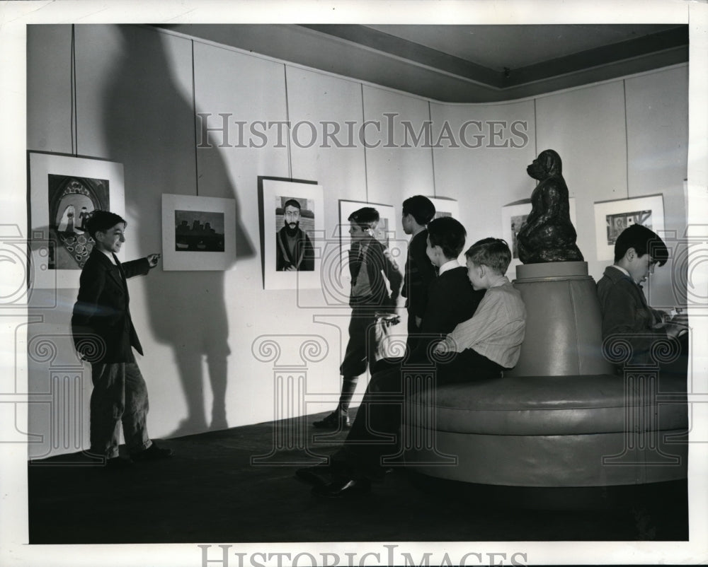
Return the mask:
<path id="1" fill-rule="evenodd" d="M 314 183 L 263 178 L 263 288 L 307 289 L 321 287 L 321 254 L 319 246 L 324 234 L 324 196 L 321 185 Z M 287 199 L 297 199 L 307 206 L 307 225 L 303 228 L 314 247 L 312 271 L 277 271 L 276 235 L 282 228 L 278 209 Z M 280 215 L 282 216 L 282 215 Z M 301 218 L 303 218 L 301 211 Z"/>

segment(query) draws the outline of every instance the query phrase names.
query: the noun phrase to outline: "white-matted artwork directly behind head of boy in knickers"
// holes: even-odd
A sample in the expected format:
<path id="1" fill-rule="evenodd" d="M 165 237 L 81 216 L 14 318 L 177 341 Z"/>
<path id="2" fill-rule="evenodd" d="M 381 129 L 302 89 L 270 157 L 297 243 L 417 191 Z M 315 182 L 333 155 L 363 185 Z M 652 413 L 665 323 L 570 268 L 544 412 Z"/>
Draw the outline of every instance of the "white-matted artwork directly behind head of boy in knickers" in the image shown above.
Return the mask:
<path id="1" fill-rule="evenodd" d="M 351 247 L 351 238 L 349 236 L 350 222 L 348 219 L 354 211 L 358 211 L 358 209 L 365 206 L 373 207 L 379 213 L 379 224 L 375 230 L 375 238 L 381 242 L 384 247 L 387 247 L 391 258 L 394 262 L 396 262 L 401 271 L 406 263 L 406 250 L 408 242 L 407 240 L 399 240 L 396 238 L 396 209 L 394 209 L 393 205 L 340 199 L 338 226 L 340 242 L 339 250 L 343 288 L 347 290 L 351 281 L 351 276 L 349 273 L 349 250 Z"/>

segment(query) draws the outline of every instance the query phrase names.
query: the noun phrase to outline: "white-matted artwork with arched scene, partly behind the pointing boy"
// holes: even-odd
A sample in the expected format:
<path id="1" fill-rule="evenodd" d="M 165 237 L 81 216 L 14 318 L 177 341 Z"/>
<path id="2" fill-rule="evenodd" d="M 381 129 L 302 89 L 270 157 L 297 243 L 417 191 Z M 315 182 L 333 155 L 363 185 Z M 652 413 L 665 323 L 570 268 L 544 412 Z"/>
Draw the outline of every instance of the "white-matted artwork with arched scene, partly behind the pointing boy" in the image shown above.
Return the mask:
<path id="1" fill-rule="evenodd" d="M 28 159 L 35 267 L 30 285 L 78 288 L 94 245 L 86 228 L 93 211 L 125 218 L 122 163 L 42 152 L 29 152 Z"/>

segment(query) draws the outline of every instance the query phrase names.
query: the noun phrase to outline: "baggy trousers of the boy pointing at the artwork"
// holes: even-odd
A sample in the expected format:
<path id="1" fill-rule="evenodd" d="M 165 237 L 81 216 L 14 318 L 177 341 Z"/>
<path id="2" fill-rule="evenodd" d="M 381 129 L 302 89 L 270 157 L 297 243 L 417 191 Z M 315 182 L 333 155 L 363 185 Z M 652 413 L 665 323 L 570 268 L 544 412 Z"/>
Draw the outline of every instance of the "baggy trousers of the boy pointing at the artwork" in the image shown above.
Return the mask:
<path id="1" fill-rule="evenodd" d="M 91 452 L 118 457 L 120 423 L 129 452 L 149 448 L 147 386 L 137 364 L 92 364 L 91 380 Z"/>

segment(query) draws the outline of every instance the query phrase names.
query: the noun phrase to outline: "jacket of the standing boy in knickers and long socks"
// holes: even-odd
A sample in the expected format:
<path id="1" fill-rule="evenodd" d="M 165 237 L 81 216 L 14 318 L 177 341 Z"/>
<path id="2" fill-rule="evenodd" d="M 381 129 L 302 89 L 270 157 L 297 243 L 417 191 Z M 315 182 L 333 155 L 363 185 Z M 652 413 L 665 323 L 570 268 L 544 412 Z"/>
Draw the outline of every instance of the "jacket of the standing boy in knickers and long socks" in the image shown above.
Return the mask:
<path id="1" fill-rule="evenodd" d="M 368 246 L 364 253 L 363 260 L 367 269 L 367 276 L 369 276 L 371 294 L 363 298 L 350 296 L 349 305 L 376 306 L 392 310 L 396 307 L 398 296 L 401 292 L 403 276 L 396 262 L 391 259 L 388 250 L 381 242 L 375 238 L 370 238 L 367 244 Z M 359 250 L 359 242 L 353 243 L 349 250 L 349 271 L 352 276 L 352 291 L 362 266 L 362 260 L 358 258 Z M 390 294 L 386 288 L 386 281 L 388 281 L 391 287 Z"/>

